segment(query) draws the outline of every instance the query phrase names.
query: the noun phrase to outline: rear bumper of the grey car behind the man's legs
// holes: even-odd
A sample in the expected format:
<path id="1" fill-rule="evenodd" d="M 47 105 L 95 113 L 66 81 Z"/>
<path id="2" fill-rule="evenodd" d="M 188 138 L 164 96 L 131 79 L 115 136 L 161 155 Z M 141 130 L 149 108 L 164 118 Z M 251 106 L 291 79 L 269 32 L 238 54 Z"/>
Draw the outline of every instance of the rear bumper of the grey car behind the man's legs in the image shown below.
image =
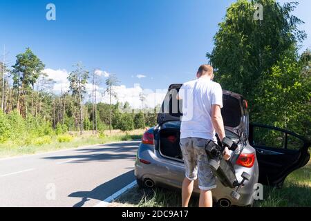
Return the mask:
<path id="1" fill-rule="evenodd" d="M 143 164 L 139 159 L 147 160 L 150 164 Z M 245 168 L 243 171 L 252 174 L 252 177 L 251 180 L 245 182 L 245 186 L 238 192 L 241 198 L 238 201 L 232 198 L 231 193 L 233 189 L 223 186 L 216 179 L 217 187 L 212 190 L 215 202 L 218 202 L 220 199 L 227 199 L 234 206 L 248 206 L 252 204 L 254 200 L 254 184 L 258 182 L 257 162 L 251 169 Z M 237 173 L 237 176 L 238 181 L 241 182 L 241 174 Z M 185 177 L 185 166 L 181 162 L 167 160 L 158 151 L 153 151 L 149 145 L 140 144 L 135 161 L 135 177 L 139 180 L 151 179 L 156 186 L 181 189 L 182 180 Z M 197 180 L 195 181 L 194 192 L 200 193 Z"/>

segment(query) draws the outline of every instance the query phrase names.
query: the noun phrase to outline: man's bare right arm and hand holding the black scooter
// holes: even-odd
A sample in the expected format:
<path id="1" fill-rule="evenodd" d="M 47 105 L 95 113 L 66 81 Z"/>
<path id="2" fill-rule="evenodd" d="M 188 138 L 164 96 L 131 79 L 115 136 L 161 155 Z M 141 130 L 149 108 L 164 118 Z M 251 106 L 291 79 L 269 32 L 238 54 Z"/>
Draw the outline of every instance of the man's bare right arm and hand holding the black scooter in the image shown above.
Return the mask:
<path id="1" fill-rule="evenodd" d="M 223 126 L 223 116 L 221 115 L 220 106 L 219 105 L 212 105 L 211 106 L 211 122 L 215 128 L 216 133 L 220 141 L 225 138 L 225 127 Z M 229 149 L 226 147 L 224 151 L 225 160 L 229 160 L 230 154 Z"/>

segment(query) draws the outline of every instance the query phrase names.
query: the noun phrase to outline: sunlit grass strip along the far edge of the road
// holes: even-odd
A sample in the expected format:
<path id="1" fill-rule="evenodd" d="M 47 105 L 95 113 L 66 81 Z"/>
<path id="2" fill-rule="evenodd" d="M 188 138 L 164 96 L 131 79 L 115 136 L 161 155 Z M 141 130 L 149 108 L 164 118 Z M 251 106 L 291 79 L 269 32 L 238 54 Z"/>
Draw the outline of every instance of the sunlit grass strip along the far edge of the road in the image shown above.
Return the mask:
<path id="1" fill-rule="evenodd" d="M 17 142 L 10 141 L 0 144 L 0 158 L 77 148 L 79 146 L 106 144 L 109 142 L 136 140 L 142 137 L 143 132 L 144 130 L 134 130 L 124 133 L 119 130 L 113 130 L 111 133 L 104 131 L 98 135 L 93 135 L 92 131 L 85 131 L 81 136 L 79 133 L 68 133 L 66 135 L 37 137 L 30 144 L 17 144 Z"/>

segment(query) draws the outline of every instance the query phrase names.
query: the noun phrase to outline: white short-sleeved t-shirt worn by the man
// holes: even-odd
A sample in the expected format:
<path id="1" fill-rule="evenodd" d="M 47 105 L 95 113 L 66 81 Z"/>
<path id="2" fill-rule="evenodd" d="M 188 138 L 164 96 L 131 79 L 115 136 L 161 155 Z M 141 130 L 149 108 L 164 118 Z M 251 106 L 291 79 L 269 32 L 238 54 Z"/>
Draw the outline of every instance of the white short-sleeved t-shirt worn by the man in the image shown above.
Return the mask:
<path id="1" fill-rule="evenodd" d="M 223 90 L 220 84 L 200 77 L 186 82 L 180 88 L 182 123 L 180 138 L 198 137 L 216 142 L 215 128 L 211 122 L 211 105 L 223 108 Z"/>

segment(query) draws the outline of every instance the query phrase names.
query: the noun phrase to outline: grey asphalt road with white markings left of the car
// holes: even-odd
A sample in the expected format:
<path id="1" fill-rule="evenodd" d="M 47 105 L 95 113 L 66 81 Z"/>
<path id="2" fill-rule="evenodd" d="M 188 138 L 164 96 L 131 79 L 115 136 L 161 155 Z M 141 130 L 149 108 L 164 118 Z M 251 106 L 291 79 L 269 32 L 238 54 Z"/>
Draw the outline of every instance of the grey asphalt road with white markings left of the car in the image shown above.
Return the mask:
<path id="1" fill-rule="evenodd" d="M 95 206 L 135 180 L 139 141 L 0 160 L 0 206 Z"/>

